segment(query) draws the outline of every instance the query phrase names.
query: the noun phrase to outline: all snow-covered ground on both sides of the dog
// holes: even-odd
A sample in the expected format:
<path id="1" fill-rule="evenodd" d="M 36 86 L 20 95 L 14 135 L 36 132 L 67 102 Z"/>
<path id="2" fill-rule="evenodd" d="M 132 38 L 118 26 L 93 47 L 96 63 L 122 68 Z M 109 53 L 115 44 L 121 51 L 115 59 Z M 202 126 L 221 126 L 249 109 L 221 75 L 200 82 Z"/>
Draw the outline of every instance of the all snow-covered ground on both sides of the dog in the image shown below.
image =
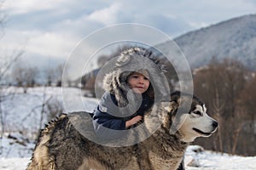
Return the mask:
<path id="1" fill-rule="evenodd" d="M 0 170 L 26 169 L 44 101 L 61 104 L 65 107 L 64 112 L 93 111 L 97 104 L 96 99 L 84 98 L 78 88 L 28 88 L 26 94 L 21 88 L 8 88 L 2 93 L 8 95 L 1 103 L 5 133 L 0 139 Z M 64 102 L 62 93 L 67 96 Z M 43 116 L 43 123 L 46 121 L 47 117 Z M 189 146 L 185 164 L 189 170 L 253 170 L 256 169 L 256 156 L 229 156 Z"/>

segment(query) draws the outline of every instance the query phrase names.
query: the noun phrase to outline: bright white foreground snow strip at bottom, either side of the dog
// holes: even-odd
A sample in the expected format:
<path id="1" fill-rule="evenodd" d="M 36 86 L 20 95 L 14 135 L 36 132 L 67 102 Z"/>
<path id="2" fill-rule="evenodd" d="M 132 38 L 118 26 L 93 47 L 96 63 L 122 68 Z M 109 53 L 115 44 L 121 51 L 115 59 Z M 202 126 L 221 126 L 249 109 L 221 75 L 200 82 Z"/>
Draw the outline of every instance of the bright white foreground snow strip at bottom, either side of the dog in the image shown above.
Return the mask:
<path id="1" fill-rule="evenodd" d="M 256 157 L 229 156 L 209 150 L 193 151 L 198 146 L 189 146 L 185 163 L 187 170 L 254 170 Z M 0 158 L 1 170 L 26 169 L 30 158 Z M 189 165 L 188 165 L 189 164 Z"/>

